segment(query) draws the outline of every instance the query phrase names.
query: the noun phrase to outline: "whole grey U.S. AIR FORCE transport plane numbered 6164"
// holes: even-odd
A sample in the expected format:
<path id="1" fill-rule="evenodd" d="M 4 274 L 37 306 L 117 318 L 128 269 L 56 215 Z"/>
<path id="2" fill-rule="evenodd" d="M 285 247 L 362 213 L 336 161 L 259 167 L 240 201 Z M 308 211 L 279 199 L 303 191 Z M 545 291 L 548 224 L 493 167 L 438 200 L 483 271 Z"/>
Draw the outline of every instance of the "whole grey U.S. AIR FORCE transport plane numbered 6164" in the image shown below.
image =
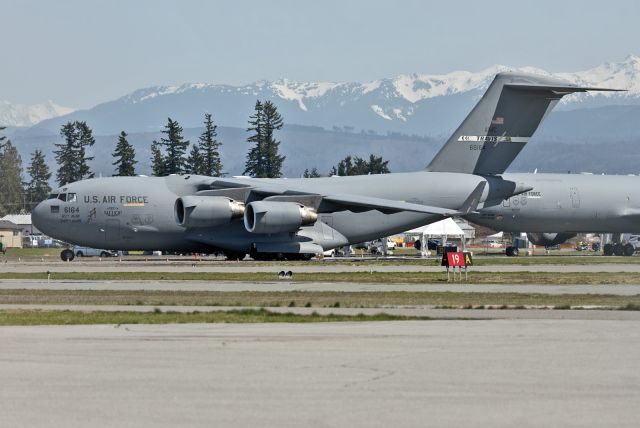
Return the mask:
<path id="1" fill-rule="evenodd" d="M 521 176 L 499 174 L 564 95 L 586 90 L 607 89 L 500 73 L 424 171 L 94 178 L 54 191 L 33 210 L 33 222 L 51 237 L 96 248 L 309 258 L 537 191 Z M 73 252 L 61 258 L 71 260 Z"/>

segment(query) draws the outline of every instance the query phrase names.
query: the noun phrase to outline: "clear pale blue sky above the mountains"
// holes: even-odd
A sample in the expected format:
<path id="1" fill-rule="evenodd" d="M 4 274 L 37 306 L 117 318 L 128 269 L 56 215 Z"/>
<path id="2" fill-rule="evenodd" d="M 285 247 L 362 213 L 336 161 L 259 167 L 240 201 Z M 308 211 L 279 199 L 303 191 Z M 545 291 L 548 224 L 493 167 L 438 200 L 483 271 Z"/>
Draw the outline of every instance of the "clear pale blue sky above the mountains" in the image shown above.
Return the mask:
<path id="1" fill-rule="evenodd" d="M 142 87 L 367 81 L 640 55 L 640 1 L 0 0 L 0 100 L 88 108 Z"/>

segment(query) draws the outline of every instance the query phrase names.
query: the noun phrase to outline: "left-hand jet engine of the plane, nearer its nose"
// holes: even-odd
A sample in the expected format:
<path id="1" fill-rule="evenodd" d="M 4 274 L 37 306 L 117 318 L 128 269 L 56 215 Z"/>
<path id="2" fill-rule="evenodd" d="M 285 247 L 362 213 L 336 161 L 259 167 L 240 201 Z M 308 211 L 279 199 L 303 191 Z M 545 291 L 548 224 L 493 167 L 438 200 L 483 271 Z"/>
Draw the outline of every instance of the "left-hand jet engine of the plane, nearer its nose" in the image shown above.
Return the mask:
<path id="1" fill-rule="evenodd" d="M 221 226 L 242 217 L 244 209 L 244 203 L 224 196 L 183 196 L 176 200 L 176 222 L 187 228 Z"/>

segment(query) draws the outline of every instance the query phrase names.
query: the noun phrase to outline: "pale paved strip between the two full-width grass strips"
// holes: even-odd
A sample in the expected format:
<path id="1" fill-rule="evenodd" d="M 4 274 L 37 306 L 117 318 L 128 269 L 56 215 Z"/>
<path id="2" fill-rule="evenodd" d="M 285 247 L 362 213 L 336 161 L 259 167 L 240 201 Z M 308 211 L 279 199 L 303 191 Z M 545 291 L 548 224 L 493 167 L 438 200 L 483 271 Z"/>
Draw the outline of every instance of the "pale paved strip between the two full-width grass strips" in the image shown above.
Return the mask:
<path id="1" fill-rule="evenodd" d="M 541 294 L 640 294 L 640 284 L 536 285 L 536 284 L 385 284 L 354 282 L 214 282 L 214 281 L 86 281 L 3 279 L 0 290 L 177 290 L 177 291 L 413 291 Z"/>

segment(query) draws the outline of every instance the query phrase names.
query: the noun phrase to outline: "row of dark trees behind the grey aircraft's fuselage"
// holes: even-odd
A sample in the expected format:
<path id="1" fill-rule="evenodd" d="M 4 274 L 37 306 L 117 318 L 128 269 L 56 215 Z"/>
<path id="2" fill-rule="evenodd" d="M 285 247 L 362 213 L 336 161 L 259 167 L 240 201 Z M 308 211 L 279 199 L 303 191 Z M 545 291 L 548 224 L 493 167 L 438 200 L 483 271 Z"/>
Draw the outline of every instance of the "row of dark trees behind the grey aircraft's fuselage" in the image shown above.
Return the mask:
<path id="1" fill-rule="evenodd" d="M 191 144 L 183 136 L 183 129 L 176 120 L 167 119 L 159 140 L 151 143 L 151 171 L 155 176 L 170 174 L 197 174 L 212 177 L 224 175 L 220 159 L 222 142 L 218 139 L 217 125 L 211 114 L 204 115 L 204 132 L 198 141 Z M 280 141 L 275 133 L 284 126 L 284 121 L 271 101 L 257 100 L 254 113 L 249 117 L 246 131 L 249 149 L 244 174 L 258 178 L 278 178 L 282 176 L 282 166 L 286 159 L 279 152 Z M 5 129 L 0 127 L 0 131 Z M 60 128 L 62 141 L 55 143 L 53 151 L 58 165 L 55 179 L 59 186 L 94 177 L 90 162 L 91 148 L 95 137 L 84 121 L 67 122 Z M 136 153 L 129 143 L 128 134 L 118 135 L 112 153 L 114 176 L 136 175 Z M 189 147 L 190 150 L 189 150 Z M 369 159 L 347 156 L 329 171 L 333 175 L 363 175 L 388 173 L 388 161 L 373 154 Z M 51 192 L 49 180 L 52 173 L 41 150 L 36 149 L 26 168 L 27 181 L 22 181 L 22 159 L 15 146 L 5 136 L 0 135 L 0 215 L 18 211 L 30 212 Z M 322 176 L 317 168 L 306 169 L 303 177 Z"/>

